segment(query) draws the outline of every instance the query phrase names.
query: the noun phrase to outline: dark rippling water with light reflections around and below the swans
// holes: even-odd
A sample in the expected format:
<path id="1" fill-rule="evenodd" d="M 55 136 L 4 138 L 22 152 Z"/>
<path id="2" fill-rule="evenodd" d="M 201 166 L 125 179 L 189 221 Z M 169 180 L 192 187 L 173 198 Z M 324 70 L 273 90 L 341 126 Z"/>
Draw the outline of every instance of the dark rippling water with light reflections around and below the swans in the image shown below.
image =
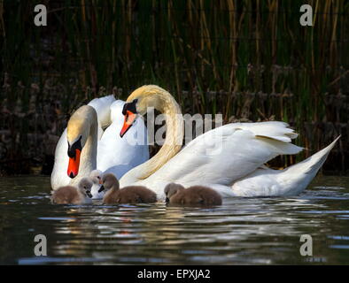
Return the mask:
<path id="1" fill-rule="evenodd" d="M 210 209 L 62 206 L 49 197 L 47 177 L 0 180 L 0 264 L 349 264 L 348 177 L 319 177 L 297 197 Z M 39 233 L 48 256 L 34 255 Z M 301 234 L 312 235 L 314 256 L 300 256 Z"/>

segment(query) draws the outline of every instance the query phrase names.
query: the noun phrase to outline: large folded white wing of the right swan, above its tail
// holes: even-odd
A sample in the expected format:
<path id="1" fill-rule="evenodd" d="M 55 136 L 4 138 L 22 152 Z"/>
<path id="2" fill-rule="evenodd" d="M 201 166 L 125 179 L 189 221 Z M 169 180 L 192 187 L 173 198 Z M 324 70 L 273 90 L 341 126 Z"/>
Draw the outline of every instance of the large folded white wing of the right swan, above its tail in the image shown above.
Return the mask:
<path id="1" fill-rule="evenodd" d="M 218 127 L 191 141 L 142 183 L 160 197 L 168 182 L 229 186 L 278 155 L 302 150 L 290 143 L 297 134 L 287 126 L 273 121 Z"/>

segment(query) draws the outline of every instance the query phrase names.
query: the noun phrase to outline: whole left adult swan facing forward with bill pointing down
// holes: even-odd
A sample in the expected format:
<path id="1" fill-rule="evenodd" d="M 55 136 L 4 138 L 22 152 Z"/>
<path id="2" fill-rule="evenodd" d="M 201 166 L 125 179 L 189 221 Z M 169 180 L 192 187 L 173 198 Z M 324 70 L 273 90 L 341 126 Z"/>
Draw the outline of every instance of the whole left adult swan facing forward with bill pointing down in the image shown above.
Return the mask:
<path id="1" fill-rule="evenodd" d="M 95 169 L 121 178 L 149 159 L 143 119 L 136 119 L 128 141 L 117 134 L 123 124 L 124 103 L 113 96 L 105 96 L 95 98 L 74 112 L 56 147 L 50 179 L 52 189 L 76 185 Z"/>

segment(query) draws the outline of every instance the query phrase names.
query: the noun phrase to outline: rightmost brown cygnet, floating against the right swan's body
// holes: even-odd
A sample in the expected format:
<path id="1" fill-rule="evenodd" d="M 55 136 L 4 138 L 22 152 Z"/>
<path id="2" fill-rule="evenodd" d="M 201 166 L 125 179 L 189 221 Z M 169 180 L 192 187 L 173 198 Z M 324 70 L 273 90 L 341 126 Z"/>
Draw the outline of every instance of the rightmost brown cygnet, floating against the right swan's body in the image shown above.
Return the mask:
<path id="1" fill-rule="evenodd" d="M 182 205 L 221 205 L 221 195 L 210 187 L 193 186 L 184 188 L 182 185 L 169 183 L 165 187 L 166 202 Z"/>

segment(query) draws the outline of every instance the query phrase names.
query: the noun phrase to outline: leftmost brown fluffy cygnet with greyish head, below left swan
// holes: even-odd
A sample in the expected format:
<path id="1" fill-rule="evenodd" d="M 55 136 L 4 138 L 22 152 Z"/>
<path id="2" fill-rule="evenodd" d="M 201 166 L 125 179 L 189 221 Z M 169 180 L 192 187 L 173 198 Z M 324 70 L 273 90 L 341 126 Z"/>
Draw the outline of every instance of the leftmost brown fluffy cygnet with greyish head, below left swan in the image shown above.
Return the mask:
<path id="1" fill-rule="evenodd" d="M 89 178 L 82 178 L 78 187 L 58 187 L 51 196 L 51 203 L 56 204 L 89 204 L 91 201 L 92 182 Z"/>

